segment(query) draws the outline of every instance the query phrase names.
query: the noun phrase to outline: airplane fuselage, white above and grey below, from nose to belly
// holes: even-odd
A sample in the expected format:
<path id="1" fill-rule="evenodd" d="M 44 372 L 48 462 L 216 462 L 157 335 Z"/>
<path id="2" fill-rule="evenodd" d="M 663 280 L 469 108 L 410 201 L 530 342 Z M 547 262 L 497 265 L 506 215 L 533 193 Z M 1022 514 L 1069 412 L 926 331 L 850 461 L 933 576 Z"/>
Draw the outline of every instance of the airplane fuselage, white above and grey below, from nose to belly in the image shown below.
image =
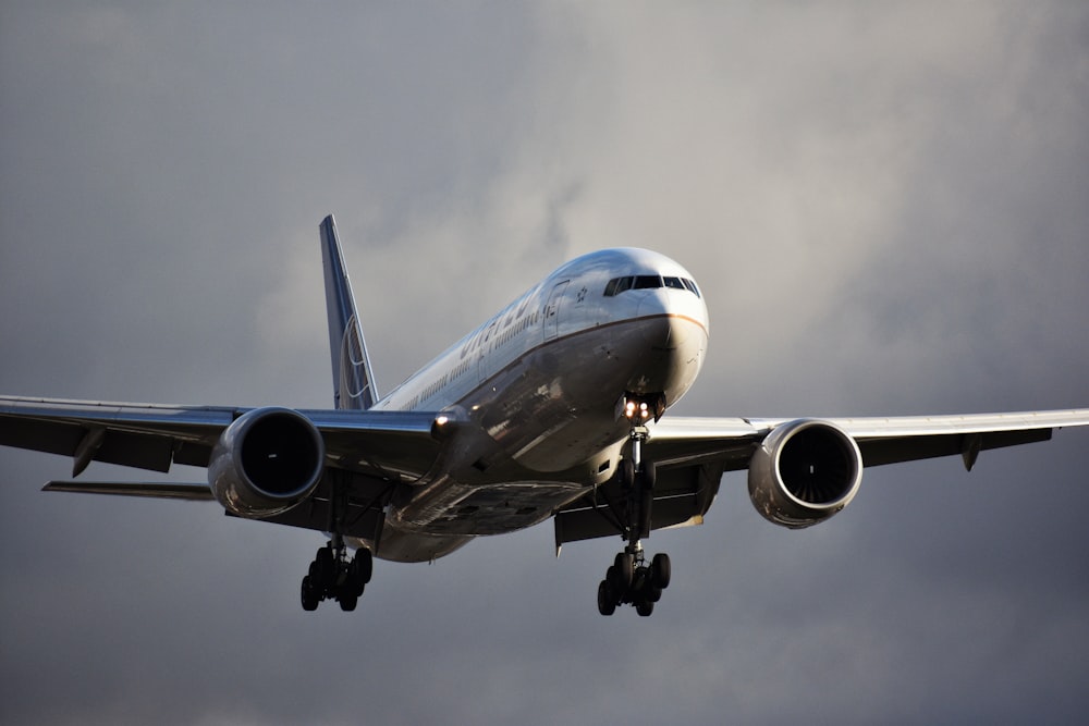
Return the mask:
<path id="1" fill-rule="evenodd" d="M 388 509 L 379 556 L 433 559 L 607 481 L 632 428 L 625 398 L 676 403 L 707 341 L 700 292 L 668 257 L 607 249 L 559 268 L 374 406 L 457 420 L 435 473 Z"/>

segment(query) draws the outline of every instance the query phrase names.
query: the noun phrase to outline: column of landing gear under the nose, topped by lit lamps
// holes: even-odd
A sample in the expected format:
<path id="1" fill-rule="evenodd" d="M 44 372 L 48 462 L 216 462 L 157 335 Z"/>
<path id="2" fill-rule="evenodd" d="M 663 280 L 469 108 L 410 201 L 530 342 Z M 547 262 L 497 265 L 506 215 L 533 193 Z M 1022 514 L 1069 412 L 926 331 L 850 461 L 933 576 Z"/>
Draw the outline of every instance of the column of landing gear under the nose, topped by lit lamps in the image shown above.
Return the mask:
<path id="1" fill-rule="evenodd" d="M 651 416 L 657 419 L 662 413 L 660 408 L 664 408 L 660 401 L 648 404 L 629 398 L 624 406 L 624 415 L 632 421 L 632 457 L 621 462 L 617 476 L 624 492 L 627 546 L 616 555 L 605 573 L 605 579 L 598 586 L 598 612 L 602 615 L 612 615 L 617 605 L 628 604 L 646 617 L 654 612 L 654 603 L 661 599 L 662 590 L 670 586 L 670 556 L 656 554 L 648 565 L 640 541 L 650 534 L 656 479 L 653 462 L 643 460 L 643 444 L 649 435 L 647 420 Z"/>

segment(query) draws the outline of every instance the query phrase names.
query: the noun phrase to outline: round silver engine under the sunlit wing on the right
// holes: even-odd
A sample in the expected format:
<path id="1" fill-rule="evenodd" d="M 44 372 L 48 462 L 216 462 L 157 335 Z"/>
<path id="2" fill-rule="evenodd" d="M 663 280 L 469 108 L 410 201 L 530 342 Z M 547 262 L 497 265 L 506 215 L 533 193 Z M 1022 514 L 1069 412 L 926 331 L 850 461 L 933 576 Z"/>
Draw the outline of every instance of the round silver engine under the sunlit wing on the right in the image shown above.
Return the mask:
<path id="1" fill-rule="evenodd" d="M 780 424 L 749 462 L 749 497 L 768 521 L 800 529 L 847 506 L 862 481 L 858 444 L 819 419 Z"/>

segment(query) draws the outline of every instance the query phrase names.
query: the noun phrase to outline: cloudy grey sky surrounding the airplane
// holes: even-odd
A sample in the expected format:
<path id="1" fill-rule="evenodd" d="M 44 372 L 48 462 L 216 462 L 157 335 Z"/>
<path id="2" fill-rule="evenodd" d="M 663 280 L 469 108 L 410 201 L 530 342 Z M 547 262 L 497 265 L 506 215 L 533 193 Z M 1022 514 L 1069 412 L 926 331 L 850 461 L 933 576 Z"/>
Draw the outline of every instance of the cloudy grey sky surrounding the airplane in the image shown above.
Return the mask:
<path id="1" fill-rule="evenodd" d="M 1084 3 L 16 0 L 0 159 L 4 394 L 331 405 L 332 212 L 383 391 L 639 246 L 706 293 L 680 414 L 1089 406 Z M 869 469 L 805 531 L 727 475 L 644 619 L 548 524 L 304 613 L 319 533 L 2 448 L 0 721 L 1078 723 L 1087 465 Z"/>

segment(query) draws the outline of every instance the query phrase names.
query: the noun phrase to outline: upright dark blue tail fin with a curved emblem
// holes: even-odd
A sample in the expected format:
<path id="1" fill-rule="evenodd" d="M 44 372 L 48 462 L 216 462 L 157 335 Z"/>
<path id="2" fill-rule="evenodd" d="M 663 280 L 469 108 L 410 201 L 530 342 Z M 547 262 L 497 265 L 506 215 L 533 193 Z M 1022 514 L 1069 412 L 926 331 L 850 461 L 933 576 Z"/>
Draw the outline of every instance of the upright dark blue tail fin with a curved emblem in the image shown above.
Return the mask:
<path id="1" fill-rule="evenodd" d="M 375 374 L 363 340 L 355 296 L 344 269 L 333 216 L 321 230 L 321 263 L 326 271 L 326 310 L 329 313 L 329 353 L 333 364 L 333 402 L 337 408 L 367 409 L 375 405 Z"/>

